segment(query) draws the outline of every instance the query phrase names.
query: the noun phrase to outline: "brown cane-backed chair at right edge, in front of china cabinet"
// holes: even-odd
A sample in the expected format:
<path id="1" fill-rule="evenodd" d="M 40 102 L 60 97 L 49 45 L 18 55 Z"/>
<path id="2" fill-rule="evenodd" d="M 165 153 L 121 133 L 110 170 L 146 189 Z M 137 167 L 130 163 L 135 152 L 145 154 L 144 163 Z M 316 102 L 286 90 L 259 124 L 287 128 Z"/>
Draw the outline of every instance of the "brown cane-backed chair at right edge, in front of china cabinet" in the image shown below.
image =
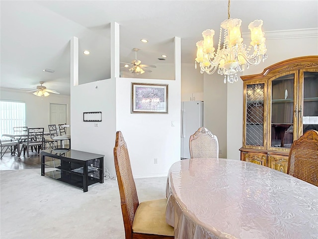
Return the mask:
<path id="1" fill-rule="evenodd" d="M 293 142 L 287 174 L 318 186 L 318 131 L 308 130 Z"/>

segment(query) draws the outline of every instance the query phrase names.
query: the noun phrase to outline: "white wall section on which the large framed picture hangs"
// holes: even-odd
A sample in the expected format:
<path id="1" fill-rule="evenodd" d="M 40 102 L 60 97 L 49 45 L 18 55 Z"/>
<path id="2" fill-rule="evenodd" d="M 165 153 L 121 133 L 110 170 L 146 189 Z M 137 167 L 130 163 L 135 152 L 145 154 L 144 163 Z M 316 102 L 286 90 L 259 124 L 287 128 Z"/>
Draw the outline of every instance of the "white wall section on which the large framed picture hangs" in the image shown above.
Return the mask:
<path id="1" fill-rule="evenodd" d="M 168 114 L 131 114 L 131 82 L 168 84 Z M 166 176 L 180 160 L 180 112 L 180 81 L 116 79 L 116 130 L 127 143 L 134 177 Z"/>

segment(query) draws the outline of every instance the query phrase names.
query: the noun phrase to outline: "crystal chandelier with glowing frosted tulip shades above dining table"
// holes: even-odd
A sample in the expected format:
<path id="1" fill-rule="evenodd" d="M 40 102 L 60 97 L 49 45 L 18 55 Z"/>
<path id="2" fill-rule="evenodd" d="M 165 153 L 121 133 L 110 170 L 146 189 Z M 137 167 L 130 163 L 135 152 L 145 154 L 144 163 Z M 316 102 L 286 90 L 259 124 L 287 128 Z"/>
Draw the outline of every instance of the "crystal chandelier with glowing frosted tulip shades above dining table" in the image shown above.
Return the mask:
<path id="1" fill-rule="evenodd" d="M 228 4 L 228 19 L 221 23 L 218 49 L 215 52 L 213 47 L 214 30 L 207 29 L 202 32 L 203 40 L 196 43 L 197 62 L 200 64 L 200 72 L 213 74 L 218 69 L 218 74 L 224 75 L 224 83 L 238 81 L 238 72 L 243 72 L 245 64 L 258 65 L 261 60 L 267 58 L 265 37 L 261 27 L 262 20 L 254 20 L 249 23 L 248 29 L 251 32 L 250 46 L 246 48 L 241 37 L 240 25 L 242 21 L 238 18 L 230 18 L 230 0 Z M 221 49 L 222 28 L 224 29 L 224 43 Z M 250 54 L 250 51 L 253 52 Z"/>

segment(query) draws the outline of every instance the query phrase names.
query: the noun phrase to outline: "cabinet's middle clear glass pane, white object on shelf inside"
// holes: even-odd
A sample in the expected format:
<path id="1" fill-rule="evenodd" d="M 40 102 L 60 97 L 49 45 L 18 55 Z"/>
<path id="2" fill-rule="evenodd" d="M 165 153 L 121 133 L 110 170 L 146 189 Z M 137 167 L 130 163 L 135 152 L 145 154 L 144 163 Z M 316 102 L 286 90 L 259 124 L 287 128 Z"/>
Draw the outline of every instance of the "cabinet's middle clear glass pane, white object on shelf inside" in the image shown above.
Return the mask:
<path id="1" fill-rule="evenodd" d="M 271 81 L 271 147 L 290 148 L 293 143 L 295 79 L 293 72 Z"/>

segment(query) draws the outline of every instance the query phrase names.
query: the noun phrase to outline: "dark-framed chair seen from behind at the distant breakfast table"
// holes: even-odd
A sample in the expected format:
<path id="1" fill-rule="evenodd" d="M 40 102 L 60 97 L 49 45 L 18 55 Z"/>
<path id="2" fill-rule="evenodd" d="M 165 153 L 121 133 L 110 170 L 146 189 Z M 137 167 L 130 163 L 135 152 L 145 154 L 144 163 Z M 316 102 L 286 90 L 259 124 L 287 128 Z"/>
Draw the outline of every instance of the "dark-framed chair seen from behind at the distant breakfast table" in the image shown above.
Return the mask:
<path id="1" fill-rule="evenodd" d="M 40 153 L 40 149 L 44 146 L 44 128 L 28 128 L 28 136 L 26 141 L 22 143 L 23 156 L 25 156 L 25 151 L 27 157 L 29 158 L 29 147 L 34 147 L 37 149 L 37 153 Z"/>

